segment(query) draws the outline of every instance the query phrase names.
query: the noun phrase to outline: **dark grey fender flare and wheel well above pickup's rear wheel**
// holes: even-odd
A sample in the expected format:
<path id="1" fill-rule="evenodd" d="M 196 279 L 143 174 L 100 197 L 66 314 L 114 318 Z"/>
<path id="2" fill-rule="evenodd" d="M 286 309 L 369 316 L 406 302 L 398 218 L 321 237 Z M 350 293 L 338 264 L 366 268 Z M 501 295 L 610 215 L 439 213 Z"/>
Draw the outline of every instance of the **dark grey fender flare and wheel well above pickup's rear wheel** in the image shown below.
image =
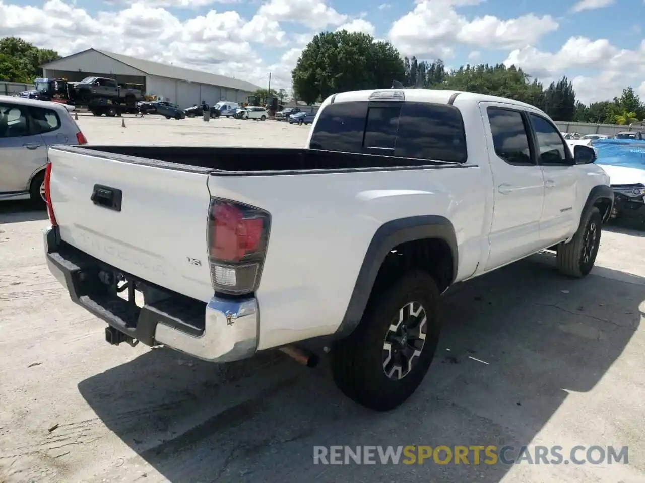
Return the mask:
<path id="1" fill-rule="evenodd" d="M 393 253 L 394 250 L 397 252 Z M 455 229 L 444 216 L 399 218 L 384 223 L 374 234 L 363 258 L 338 338 L 359 325 L 373 295 L 411 269 L 430 273 L 440 291 L 457 276 L 459 254 Z"/>

